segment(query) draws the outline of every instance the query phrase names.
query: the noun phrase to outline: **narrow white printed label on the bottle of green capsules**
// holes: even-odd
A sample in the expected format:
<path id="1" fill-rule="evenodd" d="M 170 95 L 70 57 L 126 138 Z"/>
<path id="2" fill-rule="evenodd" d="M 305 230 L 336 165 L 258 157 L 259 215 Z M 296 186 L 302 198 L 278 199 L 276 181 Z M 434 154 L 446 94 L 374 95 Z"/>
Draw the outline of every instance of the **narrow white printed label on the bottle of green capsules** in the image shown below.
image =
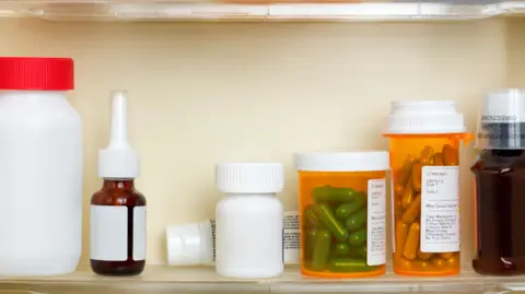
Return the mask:
<path id="1" fill-rule="evenodd" d="M 369 179 L 366 213 L 366 263 L 369 266 L 386 262 L 386 181 Z"/>

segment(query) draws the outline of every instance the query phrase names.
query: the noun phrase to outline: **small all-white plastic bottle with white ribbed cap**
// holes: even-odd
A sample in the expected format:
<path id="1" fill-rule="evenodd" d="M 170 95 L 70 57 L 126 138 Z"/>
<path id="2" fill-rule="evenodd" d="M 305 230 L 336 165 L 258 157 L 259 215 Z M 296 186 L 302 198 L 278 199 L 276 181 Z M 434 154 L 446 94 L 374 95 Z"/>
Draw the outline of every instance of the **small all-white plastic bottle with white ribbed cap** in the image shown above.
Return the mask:
<path id="1" fill-rule="evenodd" d="M 284 186 L 278 163 L 225 163 L 215 169 L 225 197 L 217 204 L 217 272 L 264 279 L 283 270 L 283 210 L 276 193 Z"/>

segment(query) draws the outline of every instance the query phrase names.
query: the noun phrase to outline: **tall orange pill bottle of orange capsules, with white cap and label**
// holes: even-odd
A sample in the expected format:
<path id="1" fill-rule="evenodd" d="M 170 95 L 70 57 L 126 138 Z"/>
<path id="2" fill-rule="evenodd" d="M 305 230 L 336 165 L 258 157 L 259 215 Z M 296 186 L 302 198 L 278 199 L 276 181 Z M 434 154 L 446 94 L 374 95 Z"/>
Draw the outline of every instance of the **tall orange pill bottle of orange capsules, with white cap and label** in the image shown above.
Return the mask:
<path id="1" fill-rule="evenodd" d="M 394 102 L 394 271 L 453 275 L 459 262 L 459 145 L 468 134 L 454 102 Z"/>

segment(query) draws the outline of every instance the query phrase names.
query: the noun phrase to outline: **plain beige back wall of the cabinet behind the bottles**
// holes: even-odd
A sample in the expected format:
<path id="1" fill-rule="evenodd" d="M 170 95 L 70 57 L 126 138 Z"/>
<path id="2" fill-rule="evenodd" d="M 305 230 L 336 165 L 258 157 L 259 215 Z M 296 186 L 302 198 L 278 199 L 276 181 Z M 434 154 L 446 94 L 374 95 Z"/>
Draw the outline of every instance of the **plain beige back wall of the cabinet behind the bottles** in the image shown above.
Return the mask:
<path id="1" fill-rule="evenodd" d="M 164 228 L 213 216 L 213 165 L 278 161 L 296 205 L 296 151 L 386 149 L 390 101 L 453 99 L 475 131 L 486 91 L 525 86 L 525 21 L 429 23 L 54 23 L 0 20 L 0 55 L 77 62 L 71 103 L 84 121 L 84 250 L 101 187 L 109 91 L 130 94 L 142 158 L 148 262 L 165 263 Z M 474 254 L 471 146 L 462 152 L 464 261 Z"/>

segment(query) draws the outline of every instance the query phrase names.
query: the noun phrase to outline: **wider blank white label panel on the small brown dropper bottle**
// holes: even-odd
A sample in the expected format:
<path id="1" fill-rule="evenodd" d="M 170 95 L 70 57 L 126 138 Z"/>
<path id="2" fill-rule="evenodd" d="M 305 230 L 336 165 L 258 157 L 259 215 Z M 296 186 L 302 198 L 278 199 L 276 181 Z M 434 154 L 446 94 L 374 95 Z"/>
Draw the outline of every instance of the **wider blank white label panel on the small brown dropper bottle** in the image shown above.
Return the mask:
<path id="1" fill-rule="evenodd" d="M 91 259 L 128 259 L 128 208 L 91 205 Z"/>

